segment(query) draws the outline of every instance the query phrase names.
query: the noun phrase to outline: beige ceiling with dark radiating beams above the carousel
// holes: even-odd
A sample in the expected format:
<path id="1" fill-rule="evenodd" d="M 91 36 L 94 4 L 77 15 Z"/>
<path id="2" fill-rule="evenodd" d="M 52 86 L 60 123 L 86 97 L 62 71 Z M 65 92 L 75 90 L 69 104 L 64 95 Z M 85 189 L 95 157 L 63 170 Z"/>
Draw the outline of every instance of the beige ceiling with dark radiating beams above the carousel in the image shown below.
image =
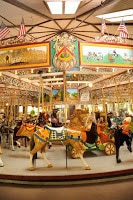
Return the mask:
<path id="1" fill-rule="evenodd" d="M 83 0 L 74 15 L 52 15 L 45 0 L 1 0 L 0 17 L 10 28 L 9 37 L 16 37 L 22 17 L 27 30 L 27 39 L 37 42 L 52 40 L 67 32 L 78 40 L 93 41 L 101 35 L 101 19 L 97 15 L 133 8 L 132 0 Z M 106 21 L 107 34 L 117 35 L 119 23 Z M 127 21 L 132 43 L 133 21 Z"/>

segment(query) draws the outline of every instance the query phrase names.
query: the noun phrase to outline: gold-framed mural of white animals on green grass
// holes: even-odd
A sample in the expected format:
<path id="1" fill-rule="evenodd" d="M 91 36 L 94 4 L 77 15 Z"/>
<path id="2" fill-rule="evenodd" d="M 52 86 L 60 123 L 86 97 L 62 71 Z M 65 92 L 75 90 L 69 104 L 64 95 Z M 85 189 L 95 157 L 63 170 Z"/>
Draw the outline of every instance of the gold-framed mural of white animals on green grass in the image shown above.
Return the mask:
<path id="1" fill-rule="evenodd" d="M 80 43 L 81 65 L 133 67 L 133 46 Z"/>

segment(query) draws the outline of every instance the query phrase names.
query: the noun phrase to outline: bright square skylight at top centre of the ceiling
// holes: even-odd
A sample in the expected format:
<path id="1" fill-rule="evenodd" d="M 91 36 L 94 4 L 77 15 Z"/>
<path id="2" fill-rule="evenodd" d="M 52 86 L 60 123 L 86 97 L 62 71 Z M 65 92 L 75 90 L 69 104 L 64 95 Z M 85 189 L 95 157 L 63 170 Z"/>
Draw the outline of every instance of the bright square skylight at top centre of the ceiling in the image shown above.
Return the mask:
<path id="1" fill-rule="evenodd" d="M 52 14 L 74 14 L 81 0 L 45 0 Z"/>

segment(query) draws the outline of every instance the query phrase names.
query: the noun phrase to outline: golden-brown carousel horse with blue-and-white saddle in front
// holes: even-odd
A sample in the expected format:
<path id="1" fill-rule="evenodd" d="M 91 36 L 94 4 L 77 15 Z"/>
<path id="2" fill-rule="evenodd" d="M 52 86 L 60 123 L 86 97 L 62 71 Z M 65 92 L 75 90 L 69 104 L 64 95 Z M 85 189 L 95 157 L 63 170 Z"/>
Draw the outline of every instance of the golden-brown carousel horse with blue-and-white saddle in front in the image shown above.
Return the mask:
<path id="1" fill-rule="evenodd" d="M 83 158 L 86 147 L 82 143 L 86 138 L 85 131 L 88 129 L 86 119 L 89 113 L 87 110 L 76 110 L 70 118 L 68 127 L 44 127 L 22 124 L 17 132 L 17 136 L 30 136 L 30 170 L 34 170 L 33 156 L 40 151 L 43 154 L 44 160 L 47 162 L 48 167 L 52 167 L 52 163 L 46 158 L 45 147 L 48 142 L 63 141 L 65 145 L 71 144 L 75 149 L 78 157 L 82 160 L 85 169 L 89 170 L 90 167 Z"/>

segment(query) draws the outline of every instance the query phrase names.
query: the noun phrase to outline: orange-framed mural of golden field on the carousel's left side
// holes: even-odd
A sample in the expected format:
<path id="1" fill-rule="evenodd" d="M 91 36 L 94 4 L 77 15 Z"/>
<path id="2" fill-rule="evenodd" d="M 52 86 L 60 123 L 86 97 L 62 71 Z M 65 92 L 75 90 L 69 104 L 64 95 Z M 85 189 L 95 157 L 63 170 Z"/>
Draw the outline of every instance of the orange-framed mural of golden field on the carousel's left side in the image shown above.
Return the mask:
<path id="1" fill-rule="evenodd" d="M 0 70 L 49 66 L 49 55 L 49 43 L 1 48 Z"/>

